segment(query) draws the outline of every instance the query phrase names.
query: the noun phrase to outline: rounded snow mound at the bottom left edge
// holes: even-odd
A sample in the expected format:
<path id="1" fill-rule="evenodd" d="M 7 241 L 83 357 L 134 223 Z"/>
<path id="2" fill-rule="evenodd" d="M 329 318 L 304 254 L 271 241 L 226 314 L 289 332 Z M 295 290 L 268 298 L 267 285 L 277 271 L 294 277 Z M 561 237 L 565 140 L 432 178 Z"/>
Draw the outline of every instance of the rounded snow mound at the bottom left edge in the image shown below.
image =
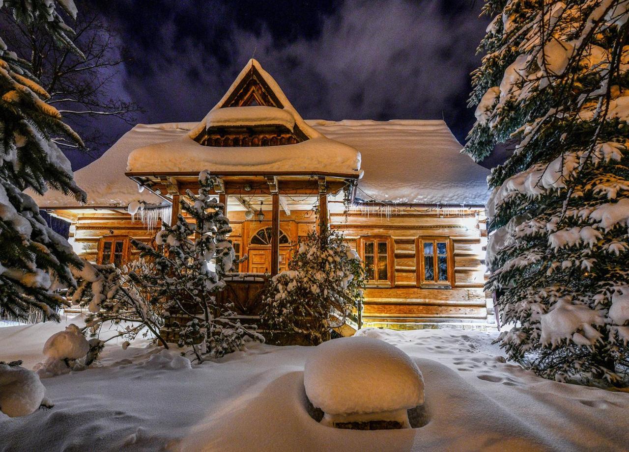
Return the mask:
<path id="1" fill-rule="evenodd" d="M 0 411 L 9 417 L 28 416 L 48 404 L 46 388 L 32 370 L 0 363 Z"/>

